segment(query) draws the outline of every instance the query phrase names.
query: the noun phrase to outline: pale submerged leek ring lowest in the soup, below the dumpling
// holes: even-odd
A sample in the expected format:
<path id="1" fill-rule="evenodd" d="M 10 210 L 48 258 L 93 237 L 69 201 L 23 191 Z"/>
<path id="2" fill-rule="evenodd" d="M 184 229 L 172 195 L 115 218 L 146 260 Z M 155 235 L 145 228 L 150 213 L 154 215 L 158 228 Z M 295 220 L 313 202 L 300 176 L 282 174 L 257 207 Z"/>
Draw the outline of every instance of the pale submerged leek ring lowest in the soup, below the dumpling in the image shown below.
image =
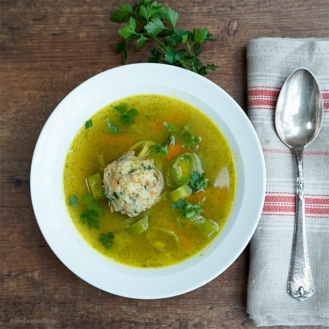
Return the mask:
<path id="1" fill-rule="evenodd" d="M 146 239 L 154 248 L 165 253 L 174 253 L 179 249 L 178 237 L 166 228 L 149 227 Z"/>

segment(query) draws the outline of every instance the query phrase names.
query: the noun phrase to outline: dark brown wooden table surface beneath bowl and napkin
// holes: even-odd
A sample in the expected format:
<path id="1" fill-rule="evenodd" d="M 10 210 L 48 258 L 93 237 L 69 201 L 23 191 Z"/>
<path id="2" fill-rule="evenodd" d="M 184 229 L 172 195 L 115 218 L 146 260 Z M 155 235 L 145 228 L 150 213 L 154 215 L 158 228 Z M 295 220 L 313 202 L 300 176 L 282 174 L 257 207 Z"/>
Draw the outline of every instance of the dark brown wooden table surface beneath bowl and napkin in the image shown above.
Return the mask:
<path id="1" fill-rule="evenodd" d="M 249 247 L 195 291 L 134 300 L 81 280 L 38 228 L 29 190 L 36 140 L 65 95 L 123 64 L 114 47 L 122 25 L 109 19 L 118 3 L 1 1 L 1 328 L 253 328 L 246 314 Z M 207 27 L 217 38 L 203 46 L 203 62 L 219 66 L 208 78 L 243 110 L 249 39 L 327 37 L 329 31 L 328 0 L 170 0 L 166 5 L 180 14 L 178 28 Z M 128 62 L 148 57 L 148 49 L 130 49 Z M 55 323 L 17 323 L 24 319 Z"/>

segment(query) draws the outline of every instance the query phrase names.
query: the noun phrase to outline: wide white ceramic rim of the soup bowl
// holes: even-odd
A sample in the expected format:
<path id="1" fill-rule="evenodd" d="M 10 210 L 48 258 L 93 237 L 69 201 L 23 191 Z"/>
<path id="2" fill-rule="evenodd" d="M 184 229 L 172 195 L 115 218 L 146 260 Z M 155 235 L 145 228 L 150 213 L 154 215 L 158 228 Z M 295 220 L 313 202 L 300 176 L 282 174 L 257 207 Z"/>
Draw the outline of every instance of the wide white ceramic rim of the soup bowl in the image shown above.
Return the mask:
<path id="1" fill-rule="evenodd" d="M 219 236 L 199 255 L 166 268 L 135 269 L 107 260 L 77 233 L 65 205 L 63 165 L 76 132 L 105 105 L 137 94 L 176 97 L 211 117 L 229 142 L 238 175 L 235 204 Z M 240 106 L 205 77 L 171 65 L 153 63 L 109 69 L 70 92 L 40 133 L 30 174 L 34 214 L 56 256 L 73 273 L 99 289 L 137 299 L 181 295 L 225 271 L 255 232 L 263 208 L 265 185 L 262 148 Z"/>

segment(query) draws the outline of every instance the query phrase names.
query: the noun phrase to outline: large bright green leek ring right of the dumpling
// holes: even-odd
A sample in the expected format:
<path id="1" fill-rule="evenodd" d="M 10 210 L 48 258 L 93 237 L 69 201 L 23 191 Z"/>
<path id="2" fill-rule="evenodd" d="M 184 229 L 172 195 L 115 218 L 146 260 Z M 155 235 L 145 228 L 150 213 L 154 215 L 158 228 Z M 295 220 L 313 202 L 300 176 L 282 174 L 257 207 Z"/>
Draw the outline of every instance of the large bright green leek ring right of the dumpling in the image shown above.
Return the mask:
<path id="1" fill-rule="evenodd" d="M 197 170 L 197 163 L 191 152 L 179 155 L 170 167 L 172 178 L 177 184 L 187 184 Z"/>

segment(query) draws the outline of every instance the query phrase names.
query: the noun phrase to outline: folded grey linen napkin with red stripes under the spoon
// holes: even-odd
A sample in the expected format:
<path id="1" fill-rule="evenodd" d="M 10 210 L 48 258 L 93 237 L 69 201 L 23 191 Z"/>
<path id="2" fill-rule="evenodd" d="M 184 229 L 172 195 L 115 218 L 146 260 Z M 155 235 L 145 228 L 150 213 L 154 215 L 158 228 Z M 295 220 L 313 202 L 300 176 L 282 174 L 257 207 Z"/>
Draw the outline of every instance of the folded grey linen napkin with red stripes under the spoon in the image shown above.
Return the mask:
<path id="1" fill-rule="evenodd" d="M 257 326 L 329 326 L 329 39 L 253 39 L 247 59 L 248 115 L 263 148 L 267 175 L 264 208 L 250 243 L 247 312 Z M 322 129 L 304 151 L 306 236 L 315 294 L 302 302 L 286 292 L 297 168 L 274 126 L 280 89 L 300 67 L 315 75 L 324 105 Z"/>

